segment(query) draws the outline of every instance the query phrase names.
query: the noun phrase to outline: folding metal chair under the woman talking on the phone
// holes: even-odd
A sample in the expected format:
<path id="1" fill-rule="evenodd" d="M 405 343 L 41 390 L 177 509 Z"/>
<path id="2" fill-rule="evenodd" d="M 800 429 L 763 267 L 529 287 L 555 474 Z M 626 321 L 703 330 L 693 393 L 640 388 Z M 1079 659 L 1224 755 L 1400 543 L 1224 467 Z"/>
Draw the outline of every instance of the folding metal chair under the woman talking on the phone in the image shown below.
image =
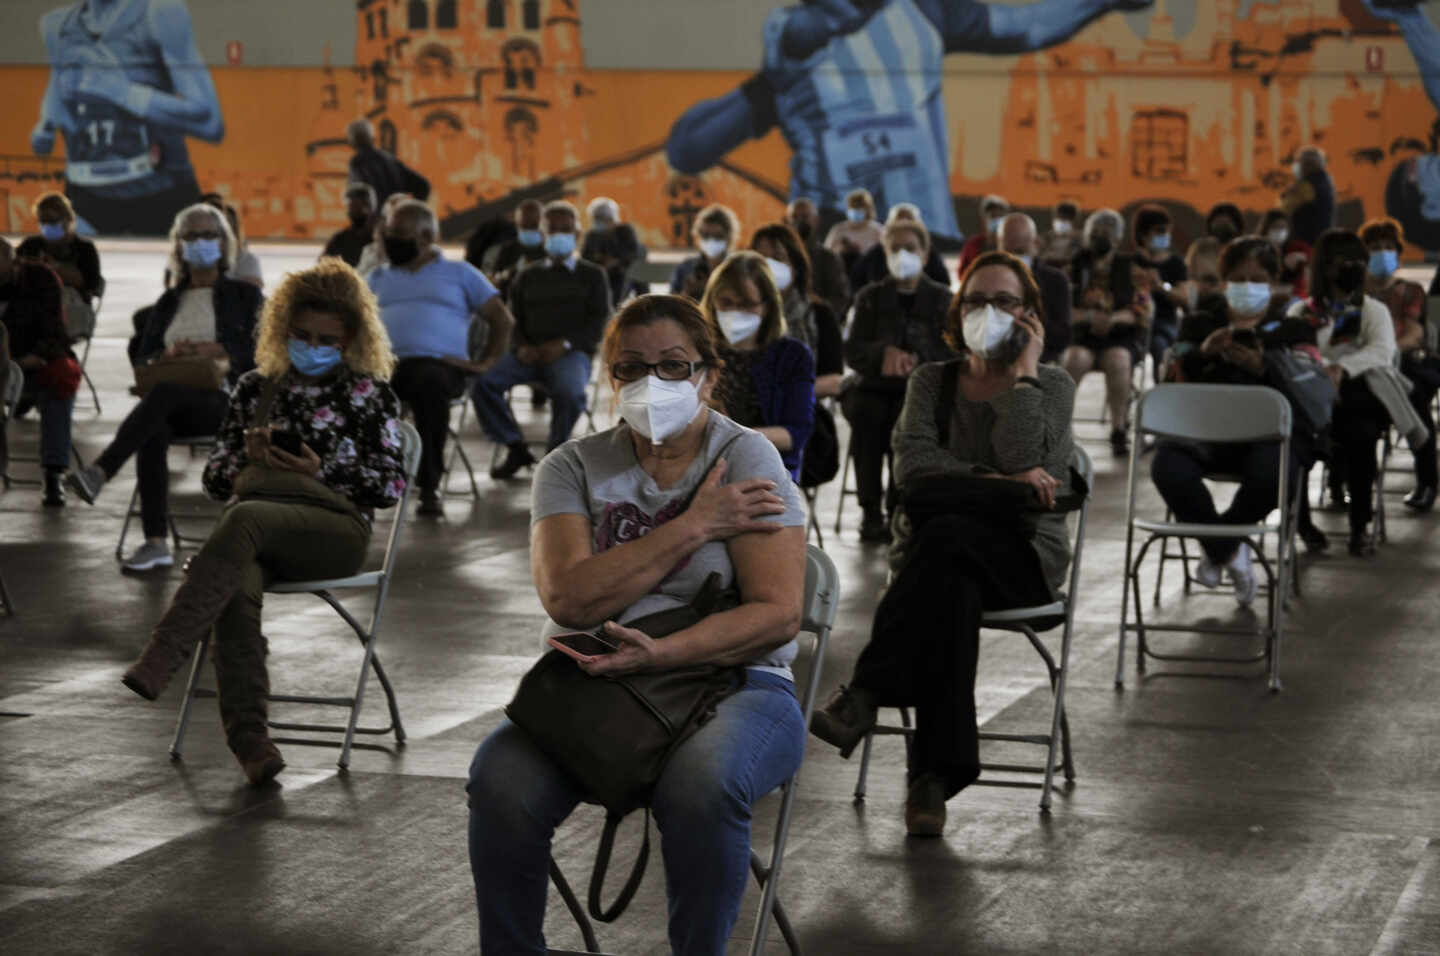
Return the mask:
<path id="1" fill-rule="evenodd" d="M 1074 456 L 1071 458 L 1071 466 L 1080 472 L 1086 481 L 1087 488 L 1094 488 L 1094 465 L 1090 461 L 1090 455 L 1086 454 L 1080 445 L 1076 445 Z M 1070 720 L 1066 717 L 1066 678 L 1070 674 L 1070 644 L 1074 635 L 1074 602 L 1076 595 L 1080 587 L 1080 557 L 1084 551 L 1084 528 L 1086 518 L 1090 514 L 1090 495 L 1086 495 L 1084 502 L 1074 513 L 1074 528 L 1071 530 L 1071 540 L 1074 541 L 1074 554 L 1070 559 L 1070 580 L 1066 585 L 1066 592 L 1058 596 L 1057 600 L 1048 605 L 1038 605 L 1034 608 L 1012 608 L 1009 610 L 988 610 L 981 615 L 981 629 L 986 631 L 1008 631 L 1011 633 L 1022 633 L 1030 641 L 1030 645 L 1035 649 L 1040 658 L 1045 662 L 1045 669 L 1050 674 L 1050 690 L 1053 693 L 1053 705 L 1050 710 L 1050 731 L 1048 733 L 1031 733 L 1031 734 L 1012 734 L 1012 733 L 995 733 L 982 730 L 976 734 L 981 740 L 989 741 L 1004 741 L 1004 743 L 1030 743 L 1045 747 L 1045 763 L 1043 766 L 1030 765 L 1014 765 L 1014 763 L 981 763 L 982 776 L 975 782 L 975 786 L 1011 786 L 1011 788 L 1040 788 L 1040 812 L 1050 812 L 1050 795 L 1054 792 L 1054 775 L 1060 769 L 1066 775 L 1066 783 L 1074 783 L 1076 769 L 1074 760 L 1070 754 Z M 1064 622 L 1064 629 L 1060 632 L 1060 662 L 1056 662 L 1056 655 L 1051 654 L 1050 648 L 1040 635 L 1035 632 L 1035 626 L 1051 628 L 1057 621 Z M 910 737 L 914 734 L 914 727 L 910 726 L 910 710 L 907 707 L 900 707 L 900 726 L 891 724 L 876 724 L 868 734 L 865 734 L 864 749 L 860 752 L 860 777 L 855 780 L 855 802 L 860 803 L 865 799 L 865 777 L 870 773 L 870 749 L 874 743 L 876 736 L 901 736 L 906 739 L 906 747 L 910 746 Z M 1056 762 L 1056 750 L 1060 750 L 1060 762 Z M 1038 773 L 1043 775 L 1041 780 L 1015 780 L 1015 779 L 994 779 L 988 780 L 984 772 L 991 770 L 995 773 Z"/>

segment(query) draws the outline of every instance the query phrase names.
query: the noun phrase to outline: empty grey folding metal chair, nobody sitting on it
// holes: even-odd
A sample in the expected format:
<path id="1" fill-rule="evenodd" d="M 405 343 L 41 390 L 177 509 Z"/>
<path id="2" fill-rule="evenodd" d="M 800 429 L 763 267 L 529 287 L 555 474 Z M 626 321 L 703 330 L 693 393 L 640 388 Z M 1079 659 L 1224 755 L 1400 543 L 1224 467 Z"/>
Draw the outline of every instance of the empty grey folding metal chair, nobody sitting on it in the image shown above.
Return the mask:
<path id="1" fill-rule="evenodd" d="M 1171 662 L 1198 664 L 1267 664 L 1272 691 L 1280 690 L 1280 635 L 1284 628 L 1284 595 L 1292 573 L 1295 502 L 1287 497 L 1290 469 L 1290 403 L 1283 394 L 1266 386 L 1230 384 L 1162 384 L 1140 399 L 1136 416 L 1136 436 L 1153 435 L 1158 441 L 1248 445 L 1274 442 L 1280 445 L 1280 487 L 1276 500 L 1279 517 L 1260 524 L 1187 524 L 1139 518 L 1135 497 L 1139 485 L 1139 441 L 1130 451 L 1130 478 L 1125 530 L 1125 585 L 1120 599 L 1120 642 L 1116 651 L 1115 685 L 1125 685 L 1125 639 L 1136 633 L 1136 669 L 1143 674 L 1146 658 Z M 1136 530 L 1149 537 L 1136 551 Z M 1272 567 L 1264 554 L 1263 538 L 1276 536 L 1276 560 Z M 1256 562 L 1264 570 L 1266 619 L 1256 629 L 1220 628 L 1207 625 L 1145 623 L 1140 602 L 1140 564 L 1151 546 L 1171 537 L 1217 538 L 1248 543 Z M 1162 546 L 1164 550 L 1164 546 Z M 1129 613 L 1133 600 L 1135 623 Z M 1161 654 L 1149 648 L 1148 631 L 1182 633 L 1217 633 L 1260 636 L 1264 646 L 1250 657 L 1215 657 L 1195 654 Z"/>

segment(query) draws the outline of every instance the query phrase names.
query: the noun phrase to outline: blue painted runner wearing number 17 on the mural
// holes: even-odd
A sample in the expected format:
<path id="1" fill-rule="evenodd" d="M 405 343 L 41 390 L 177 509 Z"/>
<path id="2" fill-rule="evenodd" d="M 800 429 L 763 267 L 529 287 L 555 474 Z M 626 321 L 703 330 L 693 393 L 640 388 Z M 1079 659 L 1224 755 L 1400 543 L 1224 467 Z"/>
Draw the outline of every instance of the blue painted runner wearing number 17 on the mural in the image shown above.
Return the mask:
<path id="1" fill-rule="evenodd" d="M 186 137 L 225 135 L 184 0 L 81 0 L 40 20 L 50 81 L 30 134 L 65 137 L 65 191 L 85 232 L 160 235 L 197 202 Z"/>

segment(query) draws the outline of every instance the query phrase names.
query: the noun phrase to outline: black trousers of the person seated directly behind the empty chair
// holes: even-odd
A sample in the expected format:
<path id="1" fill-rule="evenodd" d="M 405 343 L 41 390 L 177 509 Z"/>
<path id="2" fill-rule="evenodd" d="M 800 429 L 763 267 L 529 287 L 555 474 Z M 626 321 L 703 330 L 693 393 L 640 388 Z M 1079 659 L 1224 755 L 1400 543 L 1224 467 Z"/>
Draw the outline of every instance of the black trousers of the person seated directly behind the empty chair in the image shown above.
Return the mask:
<path id="1" fill-rule="evenodd" d="M 1290 491 L 1299 481 L 1292 462 Z M 1243 481 L 1224 513 L 1205 487 L 1205 475 L 1227 472 Z M 1201 445 L 1162 442 L 1151 462 L 1151 479 L 1175 518 L 1187 524 L 1259 524 L 1274 510 L 1280 492 L 1280 446 L 1272 442 L 1253 445 Z M 1236 556 L 1240 541 L 1201 538 L 1200 546 L 1215 564 Z"/>

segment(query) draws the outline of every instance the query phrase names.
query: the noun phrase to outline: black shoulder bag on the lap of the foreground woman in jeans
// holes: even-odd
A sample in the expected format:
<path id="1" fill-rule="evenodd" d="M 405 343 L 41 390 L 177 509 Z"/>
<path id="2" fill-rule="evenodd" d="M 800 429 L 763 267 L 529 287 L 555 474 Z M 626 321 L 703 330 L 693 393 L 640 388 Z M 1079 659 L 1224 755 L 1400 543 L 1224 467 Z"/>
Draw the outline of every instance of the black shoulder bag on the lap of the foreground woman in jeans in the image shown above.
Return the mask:
<path id="1" fill-rule="evenodd" d="M 717 458 L 734 443 L 732 439 Z M 720 587 L 711 573 L 694 600 L 626 623 L 651 638 L 684 631 L 703 618 L 739 606 L 736 589 Z M 652 674 L 590 677 L 573 658 L 549 651 L 520 678 L 505 716 L 605 806 L 605 832 L 590 874 L 589 910 L 602 923 L 619 919 L 639 890 L 649 858 L 649 801 L 670 756 L 716 714 L 716 707 L 744 687 L 744 668 L 697 664 Z M 645 835 L 629 878 L 605 908 L 600 888 L 615 831 L 645 808 Z"/>

